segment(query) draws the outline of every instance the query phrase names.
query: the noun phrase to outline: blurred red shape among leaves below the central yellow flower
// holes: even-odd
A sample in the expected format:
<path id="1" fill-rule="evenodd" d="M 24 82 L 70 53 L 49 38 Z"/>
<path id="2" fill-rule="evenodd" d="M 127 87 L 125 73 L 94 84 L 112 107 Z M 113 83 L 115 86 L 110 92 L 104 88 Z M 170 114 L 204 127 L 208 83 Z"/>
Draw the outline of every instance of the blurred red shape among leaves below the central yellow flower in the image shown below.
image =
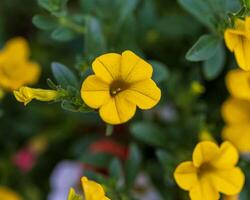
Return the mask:
<path id="1" fill-rule="evenodd" d="M 92 153 L 110 153 L 123 160 L 127 158 L 128 148 L 110 139 L 102 139 L 94 142 L 89 147 Z"/>

